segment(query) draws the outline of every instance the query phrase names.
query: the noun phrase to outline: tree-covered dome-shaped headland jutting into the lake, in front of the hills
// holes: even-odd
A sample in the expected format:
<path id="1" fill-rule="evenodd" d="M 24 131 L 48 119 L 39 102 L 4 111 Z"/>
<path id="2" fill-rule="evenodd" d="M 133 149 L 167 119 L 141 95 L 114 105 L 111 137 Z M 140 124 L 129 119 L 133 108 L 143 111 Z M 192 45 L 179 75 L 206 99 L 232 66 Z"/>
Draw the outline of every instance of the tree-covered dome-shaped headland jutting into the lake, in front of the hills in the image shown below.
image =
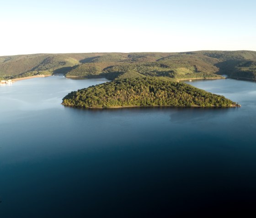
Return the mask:
<path id="1" fill-rule="evenodd" d="M 72 91 L 65 106 L 112 108 L 129 106 L 239 106 L 235 102 L 168 77 L 129 78 Z"/>

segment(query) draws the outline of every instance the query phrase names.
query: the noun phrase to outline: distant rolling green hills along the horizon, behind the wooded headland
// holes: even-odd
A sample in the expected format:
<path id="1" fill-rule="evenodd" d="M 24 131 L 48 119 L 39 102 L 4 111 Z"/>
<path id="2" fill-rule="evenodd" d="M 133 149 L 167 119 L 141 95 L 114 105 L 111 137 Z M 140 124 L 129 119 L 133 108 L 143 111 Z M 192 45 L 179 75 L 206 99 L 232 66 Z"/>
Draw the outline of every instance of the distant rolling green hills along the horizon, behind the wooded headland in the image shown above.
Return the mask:
<path id="1" fill-rule="evenodd" d="M 0 77 L 63 73 L 112 80 L 144 76 L 256 79 L 256 51 L 74 53 L 0 56 Z"/>

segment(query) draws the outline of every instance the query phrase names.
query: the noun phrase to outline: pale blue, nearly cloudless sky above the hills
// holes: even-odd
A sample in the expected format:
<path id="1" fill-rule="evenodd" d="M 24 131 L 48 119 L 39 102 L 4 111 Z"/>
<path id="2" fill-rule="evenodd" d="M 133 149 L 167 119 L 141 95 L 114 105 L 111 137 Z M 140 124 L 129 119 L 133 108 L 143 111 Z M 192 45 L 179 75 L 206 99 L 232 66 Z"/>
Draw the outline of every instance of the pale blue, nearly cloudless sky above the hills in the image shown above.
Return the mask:
<path id="1" fill-rule="evenodd" d="M 0 0 L 0 55 L 256 51 L 255 0 Z"/>

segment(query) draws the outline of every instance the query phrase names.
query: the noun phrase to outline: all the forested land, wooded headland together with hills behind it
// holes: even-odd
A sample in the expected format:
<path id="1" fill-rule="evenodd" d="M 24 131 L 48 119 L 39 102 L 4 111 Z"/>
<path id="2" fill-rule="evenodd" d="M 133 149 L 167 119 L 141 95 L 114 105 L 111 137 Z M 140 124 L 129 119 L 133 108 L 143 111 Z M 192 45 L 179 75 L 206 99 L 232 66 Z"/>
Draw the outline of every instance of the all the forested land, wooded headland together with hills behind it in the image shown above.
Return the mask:
<path id="1" fill-rule="evenodd" d="M 110 83 L 69 93 L 63 104 L 83 107 L 237 106 L 183 80 L 256 80 L 256 51 L 77 53 L 0 56 L 1 80 L 27 76 L 105 77 Z"/>

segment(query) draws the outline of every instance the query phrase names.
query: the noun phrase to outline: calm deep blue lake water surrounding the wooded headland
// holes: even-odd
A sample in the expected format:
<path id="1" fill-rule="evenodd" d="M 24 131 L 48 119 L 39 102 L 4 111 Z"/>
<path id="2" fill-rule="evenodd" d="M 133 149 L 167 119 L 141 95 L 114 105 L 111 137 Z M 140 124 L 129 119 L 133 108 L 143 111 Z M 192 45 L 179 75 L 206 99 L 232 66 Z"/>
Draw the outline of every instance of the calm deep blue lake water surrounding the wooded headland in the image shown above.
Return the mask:
<path id="1" fill-rule="evenodd" d="M 256 203 L 256 83 L 196 81 L 240 108 L 64 107 L 105 82 L 0 87 L 0 218 L 216 217 Z"/>

